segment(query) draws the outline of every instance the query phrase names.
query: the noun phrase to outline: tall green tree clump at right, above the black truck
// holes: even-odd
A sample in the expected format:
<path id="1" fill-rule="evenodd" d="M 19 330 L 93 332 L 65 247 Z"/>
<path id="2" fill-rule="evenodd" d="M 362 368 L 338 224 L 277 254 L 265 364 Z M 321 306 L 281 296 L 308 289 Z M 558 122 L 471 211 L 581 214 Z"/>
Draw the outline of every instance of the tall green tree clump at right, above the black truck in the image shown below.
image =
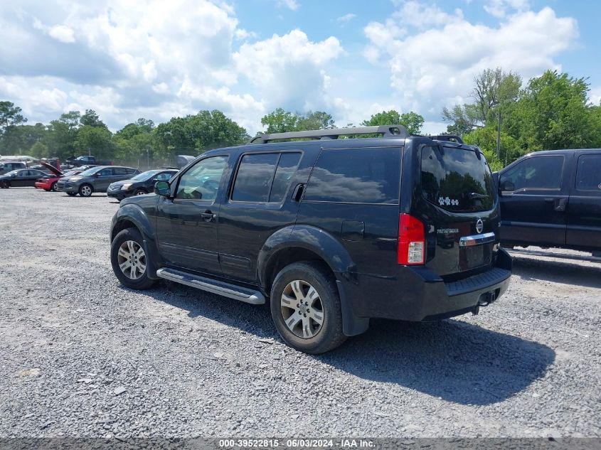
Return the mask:
<path id="1" fill-rule="evenodd" d="M 586 78 L 547 70 L 525 85 L 502 68 L 474 77 L 472 102 L 442 110 L 447 133 L 484 150 L 494 170 L 531 151 L 601 147 L 601 105 Z"/>

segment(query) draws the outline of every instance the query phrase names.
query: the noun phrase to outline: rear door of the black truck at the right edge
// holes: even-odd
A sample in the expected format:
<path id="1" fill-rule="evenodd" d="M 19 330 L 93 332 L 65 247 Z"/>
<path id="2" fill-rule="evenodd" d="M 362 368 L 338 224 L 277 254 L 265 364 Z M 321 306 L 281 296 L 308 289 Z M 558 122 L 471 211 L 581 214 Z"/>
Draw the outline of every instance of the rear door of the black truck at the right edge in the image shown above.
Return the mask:
<path id="1" fill-rule="evenodd" d="M 601 251 L 601 150 L 576 154 L 568 211 L 568 247 Z"/>

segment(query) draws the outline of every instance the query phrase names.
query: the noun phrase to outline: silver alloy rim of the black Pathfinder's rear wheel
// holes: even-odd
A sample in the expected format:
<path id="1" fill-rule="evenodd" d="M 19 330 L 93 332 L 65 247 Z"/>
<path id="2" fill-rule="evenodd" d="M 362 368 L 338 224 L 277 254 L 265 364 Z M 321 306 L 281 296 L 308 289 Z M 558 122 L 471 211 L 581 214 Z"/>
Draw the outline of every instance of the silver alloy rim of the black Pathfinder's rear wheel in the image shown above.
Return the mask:
<path id="1" fill-rule="evenodd" d="M 311 284 L 301 279 L 289 282 L 280 304 L 284 323 L 294 335 L 309 339 L 319 333 L 324 324 L 324 306 Z"/>

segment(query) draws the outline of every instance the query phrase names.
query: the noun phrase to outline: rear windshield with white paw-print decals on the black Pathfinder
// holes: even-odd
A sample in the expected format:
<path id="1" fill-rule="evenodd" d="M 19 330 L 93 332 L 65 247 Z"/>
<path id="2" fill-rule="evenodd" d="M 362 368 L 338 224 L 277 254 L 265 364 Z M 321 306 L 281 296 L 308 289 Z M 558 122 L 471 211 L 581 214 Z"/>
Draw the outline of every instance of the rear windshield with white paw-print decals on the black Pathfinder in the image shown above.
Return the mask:
<path id="1" fill-rule="evenodd" d="M 490 210 L 495 200 L 484 156 L 454 147 L 422 149 L 422 194 L 430 203 L 457 212 Z"/>

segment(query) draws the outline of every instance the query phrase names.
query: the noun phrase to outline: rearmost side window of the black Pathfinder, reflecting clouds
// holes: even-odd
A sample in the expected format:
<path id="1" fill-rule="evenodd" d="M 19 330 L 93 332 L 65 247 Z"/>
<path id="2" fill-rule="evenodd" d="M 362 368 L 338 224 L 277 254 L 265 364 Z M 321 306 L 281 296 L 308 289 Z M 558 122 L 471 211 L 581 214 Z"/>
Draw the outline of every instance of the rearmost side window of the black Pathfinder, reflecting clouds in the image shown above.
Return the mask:
<path id="1" fill-rule="evenodd" d="M 400 148 L 324 150 L 304 201 L 398 203 Z"/>

